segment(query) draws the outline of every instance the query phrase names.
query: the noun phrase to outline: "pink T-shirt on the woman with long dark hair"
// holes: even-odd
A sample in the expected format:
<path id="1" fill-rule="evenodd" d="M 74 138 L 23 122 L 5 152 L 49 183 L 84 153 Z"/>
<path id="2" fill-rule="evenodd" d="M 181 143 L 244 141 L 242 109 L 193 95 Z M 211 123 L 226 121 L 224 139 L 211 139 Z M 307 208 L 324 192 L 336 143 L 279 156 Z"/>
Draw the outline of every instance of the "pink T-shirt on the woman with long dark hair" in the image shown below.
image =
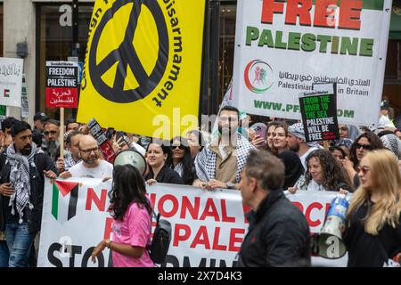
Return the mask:
<path id="1" fill-rule="evenodd" d="M 113 251 L 114 267 L 154 267 L 146 245 L 151 244 L 151 215 L 146 208 L 139 208 L 135 202 L 127 208 L 122 221 L 112 224 L 112 241 L 145 248 L 140 258 L 120 255 Z"/>

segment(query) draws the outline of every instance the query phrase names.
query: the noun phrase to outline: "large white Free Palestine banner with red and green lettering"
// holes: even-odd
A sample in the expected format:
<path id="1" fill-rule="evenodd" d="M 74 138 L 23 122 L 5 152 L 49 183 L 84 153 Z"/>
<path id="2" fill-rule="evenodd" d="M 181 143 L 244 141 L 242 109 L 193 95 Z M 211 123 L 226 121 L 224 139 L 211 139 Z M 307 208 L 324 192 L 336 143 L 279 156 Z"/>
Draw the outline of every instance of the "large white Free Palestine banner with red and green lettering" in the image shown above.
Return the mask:
<path id="1" fill-rule="evenodd" d="M 377 124 L 391 0 L 239 0 L 233 105 L 300 119 L 298 94 L 337 83 L 339 123 Z"/>

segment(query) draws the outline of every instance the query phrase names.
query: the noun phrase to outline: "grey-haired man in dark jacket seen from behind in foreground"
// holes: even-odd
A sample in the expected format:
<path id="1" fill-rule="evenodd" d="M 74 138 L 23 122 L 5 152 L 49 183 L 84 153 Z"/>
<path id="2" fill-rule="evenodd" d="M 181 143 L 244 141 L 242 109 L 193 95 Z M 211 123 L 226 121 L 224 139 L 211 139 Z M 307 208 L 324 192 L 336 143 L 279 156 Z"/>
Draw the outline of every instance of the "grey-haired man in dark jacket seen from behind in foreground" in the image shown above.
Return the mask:
<path id="1" fill-rule="evenodd" d="M 307 219 L 282 192 L 284 165 L 266 151 L 250 151 L 241 174 L 243 202 L 252 209 L 239 265 L 310 266 Z"/>

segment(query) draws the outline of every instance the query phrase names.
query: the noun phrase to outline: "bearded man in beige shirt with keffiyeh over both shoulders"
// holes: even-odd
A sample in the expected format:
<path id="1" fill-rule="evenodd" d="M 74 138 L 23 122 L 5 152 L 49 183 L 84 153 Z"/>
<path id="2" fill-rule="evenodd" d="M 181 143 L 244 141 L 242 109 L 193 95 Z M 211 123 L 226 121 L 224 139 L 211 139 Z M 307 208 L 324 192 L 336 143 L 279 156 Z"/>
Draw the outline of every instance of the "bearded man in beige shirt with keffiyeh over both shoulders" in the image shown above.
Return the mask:
<path id="1" fill-rule="evenodd" d="M 238 190 L 242 167 L 255 147 L 238 133 L 238 109 L 225 106 L 217 119 L 219 134 L 196 156 L 196 173 L 208 190 Z"/>

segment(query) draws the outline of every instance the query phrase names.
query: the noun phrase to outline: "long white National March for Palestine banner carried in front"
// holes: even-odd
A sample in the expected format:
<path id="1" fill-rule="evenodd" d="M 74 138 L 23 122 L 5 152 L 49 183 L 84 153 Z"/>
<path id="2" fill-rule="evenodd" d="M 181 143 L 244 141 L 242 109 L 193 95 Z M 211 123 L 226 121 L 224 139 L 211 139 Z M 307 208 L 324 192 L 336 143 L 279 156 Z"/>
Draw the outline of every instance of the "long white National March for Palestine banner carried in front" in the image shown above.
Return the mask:
<path id="1" fill-rule="evenodd" d="M 45 199 L 38 266 L 110 266 L 106 248 L 94 265 L 94 247 L 111 235 L 108 213 L 111 182 L 80 178 L 45 181 Z M 192 186 L 157 183 L 147 191 L 156 213 L 172 224 L 168 267 L 232 267 L 248 230 L 241 192 L 203 191 Z M 288 197 L 307 217 L 311 232 L 319 232 L 336 192 L 298 191 Z M 154 229 L 155 223 L 153 223 Z M 314 265 L 345 266 L 337 260 L 314 257 Z"/>

